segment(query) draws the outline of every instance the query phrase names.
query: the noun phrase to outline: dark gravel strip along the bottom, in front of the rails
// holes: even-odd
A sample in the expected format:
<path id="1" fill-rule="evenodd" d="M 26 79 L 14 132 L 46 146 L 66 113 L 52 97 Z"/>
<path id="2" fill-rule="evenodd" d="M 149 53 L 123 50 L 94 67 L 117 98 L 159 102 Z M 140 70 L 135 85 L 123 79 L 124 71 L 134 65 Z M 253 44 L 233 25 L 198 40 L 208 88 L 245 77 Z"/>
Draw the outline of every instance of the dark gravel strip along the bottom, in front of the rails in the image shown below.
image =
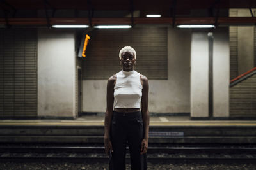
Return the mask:
<path id="1" fill-rule="evenodd" d="M 0 162 L 0 169 L 2 170 L 17 170 L 17 169 L 109 169 L 108 163 L 100 163 L 100 162 L 86 162 L 86 163 L 71 163 L 71 162 Z M 131 169 L 131 165 L 127 164 L 126 169 Z M 256 164 L 186 164 L 186 163 L 179 163 L 179 164 L 168 164 L 168 163 L 161 163 L 161 164 L 152 164 L 148 162 L 148 170 L 150 169 L 173 169 L 173 170 L 186 170 L 186 169 L 256 169 Z"/>

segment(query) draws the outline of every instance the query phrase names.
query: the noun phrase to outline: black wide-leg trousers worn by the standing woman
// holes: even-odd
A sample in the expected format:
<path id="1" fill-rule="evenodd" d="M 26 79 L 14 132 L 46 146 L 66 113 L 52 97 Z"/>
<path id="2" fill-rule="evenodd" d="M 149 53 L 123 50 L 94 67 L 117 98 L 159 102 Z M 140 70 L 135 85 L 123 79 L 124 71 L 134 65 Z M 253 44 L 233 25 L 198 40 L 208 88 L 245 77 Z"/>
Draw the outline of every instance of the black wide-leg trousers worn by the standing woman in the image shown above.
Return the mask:
<path id="1" fill-rule="evenodd" d="M 144 138 L 143 119 L 140 111 L 120 113 L 113 111 L 111 121 L 112 158 L 109 162 L 111 170 L 125 169 L 125 154 L 128 144 L 132 170 L 147 169 L 147 155 L 141 155 L 141 141 Z"/>

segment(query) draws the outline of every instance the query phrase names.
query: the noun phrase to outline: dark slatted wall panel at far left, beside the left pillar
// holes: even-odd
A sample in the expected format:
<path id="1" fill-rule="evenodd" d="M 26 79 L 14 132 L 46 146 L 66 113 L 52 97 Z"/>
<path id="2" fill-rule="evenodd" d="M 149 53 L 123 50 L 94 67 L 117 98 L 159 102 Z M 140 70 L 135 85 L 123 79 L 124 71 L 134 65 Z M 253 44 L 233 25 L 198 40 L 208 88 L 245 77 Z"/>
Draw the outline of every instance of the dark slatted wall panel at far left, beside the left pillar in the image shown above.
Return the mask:
<path id="1" fill-rule="evenodd" d="M 36 29 L 1 29 L 0 63 L 0 116 L 36 116 Z"/>

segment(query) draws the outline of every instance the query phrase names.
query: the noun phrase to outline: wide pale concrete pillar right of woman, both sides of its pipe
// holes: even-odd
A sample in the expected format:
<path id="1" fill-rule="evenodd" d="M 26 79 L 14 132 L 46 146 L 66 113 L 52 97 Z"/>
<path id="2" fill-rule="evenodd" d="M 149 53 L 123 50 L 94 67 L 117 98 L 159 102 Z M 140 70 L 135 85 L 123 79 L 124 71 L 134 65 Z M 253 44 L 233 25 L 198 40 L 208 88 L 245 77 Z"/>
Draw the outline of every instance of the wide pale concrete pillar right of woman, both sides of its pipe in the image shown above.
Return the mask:
<path id="1" fill-rule="evenodd" d="M 229 116 L 228 28 L 213 30 L 212 96 L 209 93 L 208 32 L 194 31 L 191 39 L 191 117 Z M 211 73 L 211 71 L 210 71 Z M 211 82 L 211 81 L 210 81 Z M 209 98 L 213 99 L 209 105 Z M 211 100 L 210 100 L 211 101 Z M 209 113 L 212 107 L 212 115 Z"/>

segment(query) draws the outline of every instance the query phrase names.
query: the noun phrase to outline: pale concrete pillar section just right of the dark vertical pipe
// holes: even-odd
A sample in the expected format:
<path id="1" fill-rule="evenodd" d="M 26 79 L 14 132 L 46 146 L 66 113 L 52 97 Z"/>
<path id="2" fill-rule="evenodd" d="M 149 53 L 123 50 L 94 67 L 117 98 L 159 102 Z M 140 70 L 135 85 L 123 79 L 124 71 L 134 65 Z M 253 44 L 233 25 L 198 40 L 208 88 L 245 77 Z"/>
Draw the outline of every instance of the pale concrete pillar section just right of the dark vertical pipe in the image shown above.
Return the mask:
<path id="1" fill-rule="evenodd" d="M 213 117 L 229 116 L 228 27 L 213 32 Z"/>

